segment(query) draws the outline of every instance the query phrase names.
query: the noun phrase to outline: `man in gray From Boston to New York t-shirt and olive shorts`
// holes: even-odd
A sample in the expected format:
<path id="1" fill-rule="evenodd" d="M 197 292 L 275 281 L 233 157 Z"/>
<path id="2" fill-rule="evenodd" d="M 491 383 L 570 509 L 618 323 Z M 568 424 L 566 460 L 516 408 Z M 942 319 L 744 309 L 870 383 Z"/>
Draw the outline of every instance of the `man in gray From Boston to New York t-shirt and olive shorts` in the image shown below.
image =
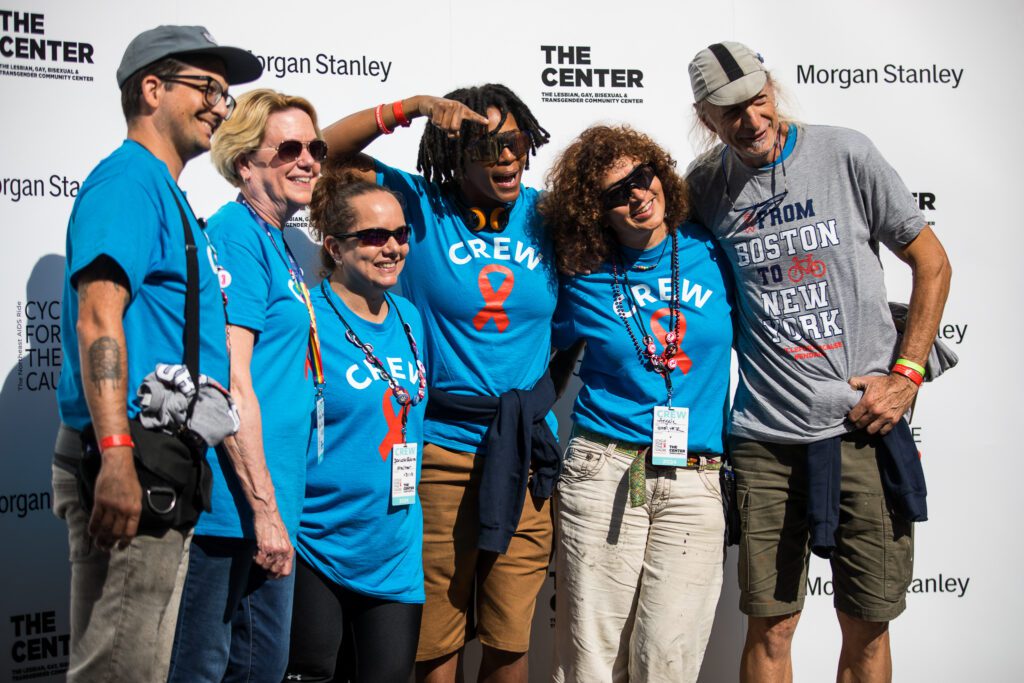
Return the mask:
<path id="1" fill-rule="evenodd" d="M 831 561 L 839 680 L 891 680 L 888 626 L 905 608 L 911 522 L 926 517 L 888 496 L 880 470 L 907 447 L 918 462 L 902 418 L 925 374 L 949 262 L 870 140 L 791 121 L 760 54 L 716 43 L 689 73 L 708 142 L 688 172 L 695 218 L 722 245 L 739 303 L 729 452 L 739 606 L 750 617 L 740 680 L 793 680 L 811 549 Z M 901 340 L 879 242 L 913 273 Z M 831 464 L 835 478 L 822 480 L 839 488 L 835 508 L 809 483 Z M 923 475 L 921 484 L 923 500 Z M 836 527 L 808 522 L 821 509 L 834 510 Z"/>

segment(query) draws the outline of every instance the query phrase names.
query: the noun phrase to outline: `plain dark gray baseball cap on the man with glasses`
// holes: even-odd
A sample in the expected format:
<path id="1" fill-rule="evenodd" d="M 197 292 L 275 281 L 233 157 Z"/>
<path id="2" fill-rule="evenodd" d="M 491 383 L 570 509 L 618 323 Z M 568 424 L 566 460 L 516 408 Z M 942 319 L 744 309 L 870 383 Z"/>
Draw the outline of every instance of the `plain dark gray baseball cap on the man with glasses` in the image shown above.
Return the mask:
<path id="1" fill-rule="evenodd" d="M 142 67 L 170 56 L 209 54 L 224 62 L 228 85 L 255 81 L 263 66 L 252 52 L 240 47 L 222 47 L 201 26 L 158 26 L 135 36 L 118 67 L 118 87 Z"/>

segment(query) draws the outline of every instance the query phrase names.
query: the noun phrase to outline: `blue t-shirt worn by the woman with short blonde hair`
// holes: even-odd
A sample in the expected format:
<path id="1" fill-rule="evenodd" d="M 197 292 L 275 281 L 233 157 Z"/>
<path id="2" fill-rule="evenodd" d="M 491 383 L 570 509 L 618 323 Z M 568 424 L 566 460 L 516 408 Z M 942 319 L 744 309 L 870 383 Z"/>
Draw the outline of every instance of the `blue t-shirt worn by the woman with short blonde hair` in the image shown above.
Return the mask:
<path id="1" fill-rule="evenodd" d="M 208 229 L 227 273 L 227 322 L 255 333 L 249 372 L 260 407 L 263 456 L 281 519 L 294 541 L 315 397 L 306 369 L 309 311 L 289 274 L 291 262 L 280 229 L 269 226 L 268 233 L 238 202 L 221 207 Z M 296 278 L 301 281 L 301 274 Z M 210 466 L 213 510 L 200 517 L 196 532 L 252 538 L 252 508 L 226 454 L 219 454 Z"/>

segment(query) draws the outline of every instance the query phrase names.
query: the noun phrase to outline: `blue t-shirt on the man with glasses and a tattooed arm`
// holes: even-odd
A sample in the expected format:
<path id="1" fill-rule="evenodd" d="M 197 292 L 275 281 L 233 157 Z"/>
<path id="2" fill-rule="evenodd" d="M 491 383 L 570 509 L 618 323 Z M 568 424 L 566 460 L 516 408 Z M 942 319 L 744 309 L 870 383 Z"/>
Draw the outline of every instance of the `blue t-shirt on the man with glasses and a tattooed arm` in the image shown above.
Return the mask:
<path id="1" fill-rule="evenodd" d="M 61 421 L 74 429 L 91 422 L 79 359 L 77 279 L 96 258 L 116 262 L 131 288 L 122 318 L 128 417 L 138 415 L 136 390 L 157 364 L 183 362 L 185 238 L 175 196 L 200 250 L 200 372 L 228 386 L 224 307 L 214 261 L 208 258 L 212 250 L 167 165 L 141 144 L 125 140 L 82 183 L 68 224 L 57 404 Z"/>

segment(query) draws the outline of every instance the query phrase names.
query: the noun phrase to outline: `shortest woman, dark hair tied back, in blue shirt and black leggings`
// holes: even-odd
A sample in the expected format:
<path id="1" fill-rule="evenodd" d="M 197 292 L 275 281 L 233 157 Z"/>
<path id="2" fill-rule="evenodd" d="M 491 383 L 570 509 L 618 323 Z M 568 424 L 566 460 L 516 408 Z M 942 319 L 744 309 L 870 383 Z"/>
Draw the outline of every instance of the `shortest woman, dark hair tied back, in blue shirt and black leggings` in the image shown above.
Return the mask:
<path id="1" fill-rule="evenodd" d="M 309 218 L 327 274 L 310 296 L 327 382 L 306 455 L 286 680 L 407 683 L 423 603 L 426 379 L 423 323 L 388 290 L 410 228 L 396 195 L 337 174 L 316 183 Z"/>

